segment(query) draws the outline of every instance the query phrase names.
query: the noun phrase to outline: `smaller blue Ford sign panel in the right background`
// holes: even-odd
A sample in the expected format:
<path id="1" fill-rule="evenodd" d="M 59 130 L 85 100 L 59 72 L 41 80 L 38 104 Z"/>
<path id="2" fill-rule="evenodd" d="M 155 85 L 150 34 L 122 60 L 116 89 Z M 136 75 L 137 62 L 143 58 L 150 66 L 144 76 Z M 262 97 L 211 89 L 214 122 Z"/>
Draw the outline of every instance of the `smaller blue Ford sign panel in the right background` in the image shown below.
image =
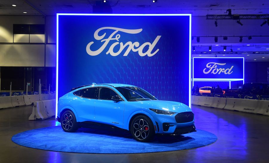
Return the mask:
<path id="1" fill-rule="evenodd" d="M 193 58 L 194 80 L 243 80 L 244 58 Z"/>

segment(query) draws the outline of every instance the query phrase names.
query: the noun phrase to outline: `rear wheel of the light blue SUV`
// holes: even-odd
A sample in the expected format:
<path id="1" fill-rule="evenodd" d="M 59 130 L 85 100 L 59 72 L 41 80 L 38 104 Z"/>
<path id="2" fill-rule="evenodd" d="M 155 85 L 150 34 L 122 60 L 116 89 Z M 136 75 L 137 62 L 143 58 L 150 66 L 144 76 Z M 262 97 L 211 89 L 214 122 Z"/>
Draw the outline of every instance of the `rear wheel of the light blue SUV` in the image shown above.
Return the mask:
<path id="1" fill-rule="evenodd" d="M 69 133 L 72 133 L 78 130 L 78 122 L 75 117 L 75 114 L 72 111 L 67 110 L 62 114 L 61 126 L 65 132 L 69 132 Z"/>

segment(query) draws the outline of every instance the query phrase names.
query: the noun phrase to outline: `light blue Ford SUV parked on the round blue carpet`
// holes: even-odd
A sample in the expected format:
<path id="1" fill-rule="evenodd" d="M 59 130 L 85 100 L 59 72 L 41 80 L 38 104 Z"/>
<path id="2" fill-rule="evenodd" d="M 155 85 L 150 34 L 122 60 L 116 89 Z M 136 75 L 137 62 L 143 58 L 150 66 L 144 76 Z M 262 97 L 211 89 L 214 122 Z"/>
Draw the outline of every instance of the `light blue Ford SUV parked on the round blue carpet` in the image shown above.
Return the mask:
<path id="1" fill-rule="evenodd" d="M 129 130 L 134 139 L 148 142 L 156 133 L 196 131 L 194 114 L 180 102 L 157 100 L 128 84 L 91 84 L 72 88 L 59 98 L 57 119 L 66 132 L 82 122 L 97 122 Z"/>

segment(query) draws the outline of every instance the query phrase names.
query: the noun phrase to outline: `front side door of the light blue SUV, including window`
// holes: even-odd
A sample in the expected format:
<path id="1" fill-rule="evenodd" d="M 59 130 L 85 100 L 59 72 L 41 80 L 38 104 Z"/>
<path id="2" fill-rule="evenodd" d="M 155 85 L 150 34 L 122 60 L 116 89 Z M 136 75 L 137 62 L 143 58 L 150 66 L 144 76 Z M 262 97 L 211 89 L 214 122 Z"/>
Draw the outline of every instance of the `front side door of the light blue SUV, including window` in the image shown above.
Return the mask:
<path id="1" fill-rule="evenodd" d="M 95 102 L 95 121 L 123 127 L 124 101 L 112 101 L 118 95 L 109 87 L 99 87 L 99 97 Z"/>

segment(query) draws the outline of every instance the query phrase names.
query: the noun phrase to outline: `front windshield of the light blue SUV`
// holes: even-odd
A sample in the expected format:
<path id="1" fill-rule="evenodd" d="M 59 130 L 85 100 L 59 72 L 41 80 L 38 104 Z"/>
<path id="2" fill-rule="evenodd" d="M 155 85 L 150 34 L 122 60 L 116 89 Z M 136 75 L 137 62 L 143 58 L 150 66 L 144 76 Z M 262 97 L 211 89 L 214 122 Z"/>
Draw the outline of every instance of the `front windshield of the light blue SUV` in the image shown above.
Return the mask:
<path id="1" fill-rule="evenodd" d="M 127 101 L 157 100 L 154 96 L 138 87 L 116 87 Z"/>

